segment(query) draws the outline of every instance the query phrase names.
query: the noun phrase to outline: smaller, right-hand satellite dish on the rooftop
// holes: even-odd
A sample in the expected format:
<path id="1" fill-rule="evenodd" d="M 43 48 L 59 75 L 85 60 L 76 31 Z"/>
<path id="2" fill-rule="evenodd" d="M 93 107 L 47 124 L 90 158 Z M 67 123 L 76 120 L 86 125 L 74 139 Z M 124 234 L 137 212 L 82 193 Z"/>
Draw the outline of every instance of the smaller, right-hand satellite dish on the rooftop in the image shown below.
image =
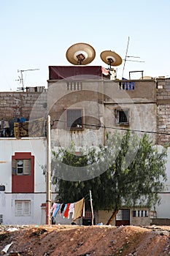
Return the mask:
<path id="1" fill-rule="evenodd" d="M 110 68 L 111 66 L 119 66 L 122 64 L 122 58 L 112 50 L 104 50 L 101 53 L 101 59 L 107 63 Z"/>

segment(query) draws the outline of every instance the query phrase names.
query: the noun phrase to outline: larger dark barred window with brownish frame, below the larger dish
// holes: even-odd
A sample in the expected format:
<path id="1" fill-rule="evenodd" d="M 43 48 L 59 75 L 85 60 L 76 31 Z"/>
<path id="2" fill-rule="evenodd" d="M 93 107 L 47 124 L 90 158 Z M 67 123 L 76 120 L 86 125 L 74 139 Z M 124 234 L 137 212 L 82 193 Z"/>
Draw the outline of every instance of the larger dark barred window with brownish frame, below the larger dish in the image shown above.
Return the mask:
<path id="1" fill-rule="evenodd" d="M 81 108 L 66 110 L 66 127 L 69 129 L 83 129 L 83 110 Z"/>

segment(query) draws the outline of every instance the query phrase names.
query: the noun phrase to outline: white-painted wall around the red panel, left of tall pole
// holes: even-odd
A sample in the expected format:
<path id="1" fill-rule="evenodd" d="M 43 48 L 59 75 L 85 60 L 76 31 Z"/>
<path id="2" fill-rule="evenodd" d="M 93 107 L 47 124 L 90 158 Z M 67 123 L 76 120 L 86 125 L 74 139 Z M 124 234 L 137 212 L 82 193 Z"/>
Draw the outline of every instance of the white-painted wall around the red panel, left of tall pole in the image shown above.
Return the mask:
<path id="1" fill-rule="evenodd" d="M 0 214 L 3 225 L 41 224 L 41 204 L 46 202 L 46 181 L 42 165 L 46 164 L 45 138 L 0 138 Z M 34 155 L 34 193 L 12 194 L 12 155 L 15 152 L 31 152 Z M 31 200 L 31 216 L 15 217 L 15 200 Z M 45 224 L 45 223 L 42 223 Z"/>

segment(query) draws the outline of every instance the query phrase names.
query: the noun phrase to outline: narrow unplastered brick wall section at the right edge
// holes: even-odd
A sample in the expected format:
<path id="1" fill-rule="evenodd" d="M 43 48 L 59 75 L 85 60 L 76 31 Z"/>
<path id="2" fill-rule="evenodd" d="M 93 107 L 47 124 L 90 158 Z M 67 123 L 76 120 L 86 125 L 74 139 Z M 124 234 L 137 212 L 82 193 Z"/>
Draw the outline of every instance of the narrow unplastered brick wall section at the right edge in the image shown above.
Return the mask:
<path id="1" fill-rule="evenodd" d="M 158 80 L 157 87 L 158 145 L 170 146 L 170 80 Z"/>

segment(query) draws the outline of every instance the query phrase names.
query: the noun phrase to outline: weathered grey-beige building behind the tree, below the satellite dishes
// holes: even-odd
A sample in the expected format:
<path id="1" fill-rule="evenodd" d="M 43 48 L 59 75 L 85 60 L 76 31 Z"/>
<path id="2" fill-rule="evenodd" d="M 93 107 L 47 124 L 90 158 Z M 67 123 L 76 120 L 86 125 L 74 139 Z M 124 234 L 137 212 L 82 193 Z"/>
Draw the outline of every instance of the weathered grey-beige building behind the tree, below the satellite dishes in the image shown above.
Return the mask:
<path id="1" fill-rule="evenodd" d="M 169 79 L 111 80 L 102 67 L 81 66 L 53 66 L 49 74 L 47 105 L 54 121 L 53 148 L 74 142 L 78 152 L 79 148 L 104 144 L 106 132 L 123 129 L 139 135 L 148 132 L 158 148 L 170 142 Z M 168 158 L 167 191 L 161 193 L 161 205 L 150 212 L 146 208 L 122 209 L 115 222 L 148 225 L 152 219 L 169 223 L 169 166 Z M 106 222 L 105 217 L 106 212 L 100 212 L 98 221 Z"/>

